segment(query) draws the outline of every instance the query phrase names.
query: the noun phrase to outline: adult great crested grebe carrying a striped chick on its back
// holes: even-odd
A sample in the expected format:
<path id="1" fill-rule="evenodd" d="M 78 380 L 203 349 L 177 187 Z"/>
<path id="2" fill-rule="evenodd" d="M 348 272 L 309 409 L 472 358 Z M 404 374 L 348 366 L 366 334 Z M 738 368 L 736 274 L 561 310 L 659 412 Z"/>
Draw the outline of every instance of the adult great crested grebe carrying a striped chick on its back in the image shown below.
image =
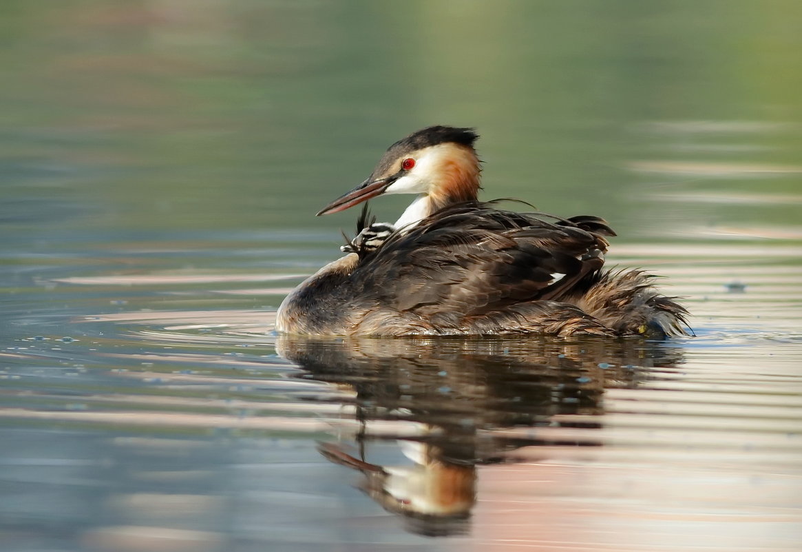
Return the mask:
<path id="1" fill-rule="evenodd" d="M 684 335 L 687 311 L 641 270 L 602 270 L 598 217 L 516 213 L 477 201 L 472 128 L 423 128 L 318 215 L 415 193 L 394 225 L 367 221 L 354 251 L 282 302 L 276 329 L 301 335 Z M 360 246 L 360 244 L 367 246 Z M 356 247 L 356 249 L 354 249 Z"/>

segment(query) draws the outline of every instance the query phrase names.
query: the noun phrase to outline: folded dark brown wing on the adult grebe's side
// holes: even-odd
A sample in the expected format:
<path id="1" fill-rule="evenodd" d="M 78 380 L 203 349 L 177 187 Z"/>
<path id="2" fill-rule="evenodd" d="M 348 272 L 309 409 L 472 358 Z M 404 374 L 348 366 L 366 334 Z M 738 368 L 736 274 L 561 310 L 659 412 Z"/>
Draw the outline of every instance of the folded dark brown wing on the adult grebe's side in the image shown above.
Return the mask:
<path id="1" fill-rule="evenodd" d="M 602 268 L 603 235 L 613 234 L 598 217 L 453 205 L 390 237 L 352 281 L 377 308 L 458 327 L 505 306 L 570 294 Z"/>

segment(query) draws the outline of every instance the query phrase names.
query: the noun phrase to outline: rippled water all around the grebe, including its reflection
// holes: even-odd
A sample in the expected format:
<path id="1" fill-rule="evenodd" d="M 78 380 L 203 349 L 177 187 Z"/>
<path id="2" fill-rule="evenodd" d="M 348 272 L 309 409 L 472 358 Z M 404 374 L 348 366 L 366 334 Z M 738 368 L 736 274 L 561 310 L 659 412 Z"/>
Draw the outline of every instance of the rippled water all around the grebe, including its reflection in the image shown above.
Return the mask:
<path id="1" fill-rule="evenodd" d="M 2 2 L 0 550 L 800 550 L 800 20 Z M 314 213 L 439 123 L 696 337 L 274 335 Z"/>

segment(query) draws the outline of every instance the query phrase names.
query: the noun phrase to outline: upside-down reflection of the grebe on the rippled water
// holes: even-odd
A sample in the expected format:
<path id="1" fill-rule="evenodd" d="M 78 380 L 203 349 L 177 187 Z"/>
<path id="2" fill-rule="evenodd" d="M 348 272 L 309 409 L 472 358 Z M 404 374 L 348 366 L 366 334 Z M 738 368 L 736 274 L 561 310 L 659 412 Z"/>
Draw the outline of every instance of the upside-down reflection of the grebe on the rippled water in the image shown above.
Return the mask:
<path id="1" fill-rule="evenodd" d="M 403 517 L 408 530 L 430 536 L 468 530 L 477 465 L 514 462 L 522 447 L 597 446 L 592 432 L 555 437 L 538 428 L 600 428 L 587 417 L 603 413 L 605 388 L 637 386 L 650 368 L 682 362 L 670 344 L 640 339 L 282 335 L 277 351 L 304 368 L 304 377 L 349 392 L 358 422 L 353 443 L 339 432 L 337 442 L 319 445 L 322 455 L 363 473 L 360 487 L 368 496 Z M 570 415 L 583 416 L 572 421 Z M 412 464 L 371 461 L 370 444 L 377 441 L 395 442 L 398 456 Z M 543 449 L 541 457 L 547 455 Z"/>

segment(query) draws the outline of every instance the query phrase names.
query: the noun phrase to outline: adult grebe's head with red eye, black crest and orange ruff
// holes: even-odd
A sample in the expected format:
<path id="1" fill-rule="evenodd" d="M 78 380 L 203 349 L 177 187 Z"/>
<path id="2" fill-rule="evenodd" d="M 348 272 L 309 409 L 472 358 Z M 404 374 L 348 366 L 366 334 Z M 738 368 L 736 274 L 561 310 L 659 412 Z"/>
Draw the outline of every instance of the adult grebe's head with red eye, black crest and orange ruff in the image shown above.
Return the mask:
<path id="1" fill-rule="evenodd" d="M 480 166 L 473 143 L 478 137 L 472 128 L 435 126 L 413 132 L 387 148 L 366 181 L 318 215 L 338 213 L 383 193 L 419 194 L 424 204 L 416 209 L 419 217 L 458 201 L 475 201 Z"/>

